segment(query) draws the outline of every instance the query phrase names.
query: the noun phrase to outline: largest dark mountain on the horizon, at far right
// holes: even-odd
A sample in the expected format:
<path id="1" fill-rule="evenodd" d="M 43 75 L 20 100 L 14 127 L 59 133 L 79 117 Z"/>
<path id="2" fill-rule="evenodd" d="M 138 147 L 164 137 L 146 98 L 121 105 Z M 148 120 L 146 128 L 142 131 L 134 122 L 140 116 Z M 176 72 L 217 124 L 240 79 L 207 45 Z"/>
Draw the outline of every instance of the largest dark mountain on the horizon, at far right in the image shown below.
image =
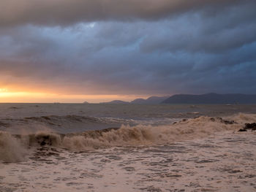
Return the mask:
<path id="1" fill-rule="evenodd" d="M 256 104 L 256 95 L 246 94 L 217 94 L 203 95 L 174 95 L 170 96 L 162 104 Z"/>

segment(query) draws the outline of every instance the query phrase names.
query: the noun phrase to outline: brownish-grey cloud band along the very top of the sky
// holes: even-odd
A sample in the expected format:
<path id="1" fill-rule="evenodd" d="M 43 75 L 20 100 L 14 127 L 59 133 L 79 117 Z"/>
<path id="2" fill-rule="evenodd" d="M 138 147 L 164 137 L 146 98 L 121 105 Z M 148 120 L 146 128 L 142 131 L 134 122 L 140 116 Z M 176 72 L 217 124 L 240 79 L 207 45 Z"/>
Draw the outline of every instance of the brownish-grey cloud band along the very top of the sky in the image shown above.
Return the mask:
<path id="1" fill-rule="evenodd" d="M 67 26 L 97 20 L 157 20 L 207 9 L 207 15 L 254 0 L 1 0 L 0 26 L 31 23 Z"/>

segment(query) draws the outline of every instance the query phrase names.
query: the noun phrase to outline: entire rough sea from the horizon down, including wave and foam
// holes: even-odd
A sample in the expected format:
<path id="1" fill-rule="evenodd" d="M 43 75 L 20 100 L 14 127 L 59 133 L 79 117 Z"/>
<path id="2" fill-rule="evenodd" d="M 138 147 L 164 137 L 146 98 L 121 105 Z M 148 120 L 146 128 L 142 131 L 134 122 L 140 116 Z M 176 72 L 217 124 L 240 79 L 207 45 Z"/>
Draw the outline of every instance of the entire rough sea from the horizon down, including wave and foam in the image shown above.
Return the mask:
<path id="1" fill-rule="evenodd" d="M 256 105 L 0 104 L 0 191 L 255 191 Z"/>

